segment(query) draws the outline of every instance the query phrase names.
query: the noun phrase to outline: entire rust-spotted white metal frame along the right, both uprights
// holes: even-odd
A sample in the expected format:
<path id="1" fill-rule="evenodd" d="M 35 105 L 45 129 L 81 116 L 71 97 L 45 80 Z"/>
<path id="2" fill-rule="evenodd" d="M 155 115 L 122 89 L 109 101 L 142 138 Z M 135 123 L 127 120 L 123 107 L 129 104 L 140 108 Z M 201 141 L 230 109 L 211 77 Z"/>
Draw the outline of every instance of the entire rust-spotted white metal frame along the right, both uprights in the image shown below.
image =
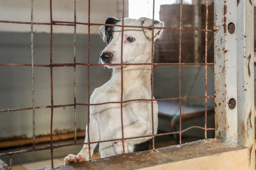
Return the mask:
<path id="1" fill-rule="evenodd" d="M 215 137 L 254 153 L 253 1 L 214 1 Z"/>

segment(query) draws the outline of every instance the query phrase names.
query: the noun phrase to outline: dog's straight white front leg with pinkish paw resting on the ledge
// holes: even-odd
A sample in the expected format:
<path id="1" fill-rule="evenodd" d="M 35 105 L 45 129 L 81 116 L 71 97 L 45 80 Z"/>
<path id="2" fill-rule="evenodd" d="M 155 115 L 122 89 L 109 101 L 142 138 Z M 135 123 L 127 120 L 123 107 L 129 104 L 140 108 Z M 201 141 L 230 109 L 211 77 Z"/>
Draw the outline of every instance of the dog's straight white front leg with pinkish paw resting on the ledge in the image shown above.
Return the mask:
<path id="1" fill-rule="evenodd" d="M 98 127 L 98 122 L 97 122 L 97 117 L 93 116 L 90 119 L 89 123 L 89 135 L 90 135 L 90 142 L 96 142 L 100 140 L 99 136 L 99 127 Z M 87 130 L 87 125 L 86 125 L 86 131 L 85 131 L 85 143 L 88 142 L 88 130 Z M 97 143 L 92 143 L 90 144 L 90 149 L 91 149 L 91 156 L 93 154 L 93 150 L 96 147 Z M 89 146 L 88 144 L 84 144 L 84 147 L 82 150 L 77 154 L 68 154 L 68 156 L 65 157 L 64 163 L 69 164 L 69 163 L 75 163 L 75 162 L 82 162 L 82 161 L 89 161 Z"/>

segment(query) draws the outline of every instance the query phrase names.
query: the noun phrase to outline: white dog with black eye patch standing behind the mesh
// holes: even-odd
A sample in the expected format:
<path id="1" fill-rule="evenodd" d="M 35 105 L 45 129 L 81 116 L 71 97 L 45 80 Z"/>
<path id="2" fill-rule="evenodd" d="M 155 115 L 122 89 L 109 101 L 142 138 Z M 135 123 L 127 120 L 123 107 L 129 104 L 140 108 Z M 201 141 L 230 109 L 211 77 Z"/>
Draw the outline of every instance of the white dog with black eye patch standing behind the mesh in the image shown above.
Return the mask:
<path id="1" fill-rule="evenodd" d="M 108 18 L 105 24 L 121 25 L 122 20 Z M 127 26 L 152 26 L 152 19 L 124 19 Z M 154 21 L 154 27 L 163 27 L 160 21 Z M 154 40 L 159 38 L 162 29 L 154 29 Z M 102 51 L 102 64 L 121 63 L 121 27 L 102 26 L 99 33 L 107 46 Z M 151 63 L 152 57 L 152 29 L 124 27 L 123 33 L 123 63 Z M 91 95 L 91 104 L 121 101 L 121 66 L 107 65 L 112 68 L 112 77 L 96 88 Z M 123 66 L 123 101 L 134 99 L 151 100 L 151 65 Z M 152 106 L 151 101 L 130 101 L 123 103 L 124 138 L 152 135 Z M 153 102 L 154 134 L 158 126 L 158 106 Z M 105 141 L 122 138 L 121 104 L 111 103 L 90 106 L 89 123 L 90 142 Z M 129 139 L 124 141 L 125 153 L 146 150 L 145 141 L 151 137 Z M 87 126 L 85 143 L 88 142 Z M 90 144 L 91 155 L 97 143 Z M 99 143 L 101 157 L 123 153 L 122 141 Z M 65 157 L 65 164 L 89 160 L 88 144 L 85 144 L 77 155 L 69 154 Z"/>

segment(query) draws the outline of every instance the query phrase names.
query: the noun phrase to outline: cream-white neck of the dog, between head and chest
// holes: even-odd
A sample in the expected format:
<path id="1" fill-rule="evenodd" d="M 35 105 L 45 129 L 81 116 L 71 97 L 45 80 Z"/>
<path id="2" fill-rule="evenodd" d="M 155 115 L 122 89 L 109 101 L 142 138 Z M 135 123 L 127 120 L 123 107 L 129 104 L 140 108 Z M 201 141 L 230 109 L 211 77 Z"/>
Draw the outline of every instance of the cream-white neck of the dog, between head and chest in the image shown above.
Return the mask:
<path id="1" fill-rule="evenodd" d="M 151 63 L 150 53 L 145 63 Z M 121 68 L 113 69 L 112 82 L 121 86 Z M 135 85 L 136 84 L 136 85 Z M 123 66 L 123 92 L 129 89 L 144 86 L 151 90 L 151 65 L 124 65 Z"/>

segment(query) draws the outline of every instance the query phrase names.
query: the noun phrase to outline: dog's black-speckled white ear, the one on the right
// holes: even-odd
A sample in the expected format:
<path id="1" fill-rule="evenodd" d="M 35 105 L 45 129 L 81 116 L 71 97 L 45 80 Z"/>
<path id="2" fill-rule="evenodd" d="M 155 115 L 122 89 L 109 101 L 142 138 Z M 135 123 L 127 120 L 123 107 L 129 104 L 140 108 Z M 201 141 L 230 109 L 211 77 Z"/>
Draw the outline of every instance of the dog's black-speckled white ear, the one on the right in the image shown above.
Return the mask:
<path id="1" fill-rule="evenodd" d="M 152 27 L 152 19 L 141 17 L 138 19 L 141 22 L 143 27 Z M 154 27 L 164 27 L 164 23 L 161 21 L 154 20 Z M 158 39 L 162 33 L 163 29 L 154 29 L 154 40 Z M 143 28 L 144 34 L 148 39 L 152 39 L 152 29 L 151 28 Z"/>

